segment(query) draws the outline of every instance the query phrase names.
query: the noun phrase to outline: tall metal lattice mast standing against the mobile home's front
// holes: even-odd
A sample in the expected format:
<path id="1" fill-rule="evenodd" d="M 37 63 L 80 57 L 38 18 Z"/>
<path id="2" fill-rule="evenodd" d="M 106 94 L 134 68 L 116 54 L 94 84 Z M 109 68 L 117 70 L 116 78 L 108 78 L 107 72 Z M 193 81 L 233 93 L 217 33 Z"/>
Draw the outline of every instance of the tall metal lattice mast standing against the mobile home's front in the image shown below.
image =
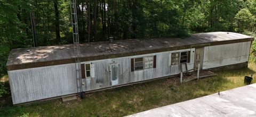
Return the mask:
<path id="1" fill-rule="evenodd" d="M 70 0 L 71 23 L 73 28 L 74 57 L 76 67 L 77 93 L 81 93 L 82 97 L 82 77 L 81 77 L 81 61 L 80 61 L 80 44 L 78 37 L 78 24 L 76 12 L 76 0 Z"/>

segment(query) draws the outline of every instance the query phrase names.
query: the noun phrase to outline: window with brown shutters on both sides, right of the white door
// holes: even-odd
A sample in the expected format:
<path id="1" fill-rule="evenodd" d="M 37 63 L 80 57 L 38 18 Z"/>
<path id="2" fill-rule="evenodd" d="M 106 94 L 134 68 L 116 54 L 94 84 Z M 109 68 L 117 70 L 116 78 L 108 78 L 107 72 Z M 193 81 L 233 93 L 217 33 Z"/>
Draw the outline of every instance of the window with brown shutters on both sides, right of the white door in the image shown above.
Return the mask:
<path id="1" fill-rule="evenodd" d="M 131 71 L 156 68 L 156 55 L 131 59 Z"/>

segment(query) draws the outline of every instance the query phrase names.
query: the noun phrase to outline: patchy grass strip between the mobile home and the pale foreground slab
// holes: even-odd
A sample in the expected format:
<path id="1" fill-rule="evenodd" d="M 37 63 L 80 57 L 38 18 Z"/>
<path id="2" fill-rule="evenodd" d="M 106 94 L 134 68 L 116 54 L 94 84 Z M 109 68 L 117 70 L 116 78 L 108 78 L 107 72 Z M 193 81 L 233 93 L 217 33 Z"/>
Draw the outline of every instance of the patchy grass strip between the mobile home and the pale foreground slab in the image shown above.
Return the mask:
<path id="1" fill-rule="evenodd" d="M 3 106 L 0 116 L 124 116 L 244 86 L 244 76 L 256 76 L 255 72 L 256 64 L 250 63 L 248 68 L 218 71 L 218 76 L 183 84 L 178 78 L 167 78 L 87 94 L 83 100 L 71 103 L 52 100 Z"/>

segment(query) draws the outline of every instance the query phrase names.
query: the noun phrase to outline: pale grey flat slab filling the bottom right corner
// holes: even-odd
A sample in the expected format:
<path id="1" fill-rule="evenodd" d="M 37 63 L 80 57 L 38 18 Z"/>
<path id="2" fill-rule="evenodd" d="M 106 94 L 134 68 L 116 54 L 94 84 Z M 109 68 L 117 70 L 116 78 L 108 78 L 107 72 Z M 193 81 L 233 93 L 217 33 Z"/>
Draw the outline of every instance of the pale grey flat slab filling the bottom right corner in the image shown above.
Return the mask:
<path id="1" fill-rule="evenodd" d="M 256 116 L 256 84 L 129 116 Z"/>

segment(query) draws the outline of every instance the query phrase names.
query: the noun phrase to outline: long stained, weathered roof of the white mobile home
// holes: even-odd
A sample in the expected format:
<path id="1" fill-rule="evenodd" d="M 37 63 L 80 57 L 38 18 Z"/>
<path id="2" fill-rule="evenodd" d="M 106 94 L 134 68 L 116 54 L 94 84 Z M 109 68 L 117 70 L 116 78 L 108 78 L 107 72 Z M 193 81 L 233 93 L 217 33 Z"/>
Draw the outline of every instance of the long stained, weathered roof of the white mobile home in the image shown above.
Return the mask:
<path id="1" fill-rule="evenodd" d="M 90 42 L 81 44 L 81 58 L 117 55 L 129 52 L 157 50 L 164 48 L 184 47 L 193 44 L 222 42 L 230 40 L 250 39 L 253 37 L 234 32 L 209 32 L 192 34 L 191 37 L 180 38 L 151 38 L 128 39 L 110 42 Z M 220 43 L 219 43 L 220 44 Z M 111 49 L 112 48 L 112 49 Z M 27 52 L 27 50 L 30 50 Z M 111 51 L 113 50 L 113 51 Z M 74 57 L 73 44 L 59 46 L 44 46 L 12 49 L 6 66 L 28 64 L 35 62 L 72 59 Z"/>

